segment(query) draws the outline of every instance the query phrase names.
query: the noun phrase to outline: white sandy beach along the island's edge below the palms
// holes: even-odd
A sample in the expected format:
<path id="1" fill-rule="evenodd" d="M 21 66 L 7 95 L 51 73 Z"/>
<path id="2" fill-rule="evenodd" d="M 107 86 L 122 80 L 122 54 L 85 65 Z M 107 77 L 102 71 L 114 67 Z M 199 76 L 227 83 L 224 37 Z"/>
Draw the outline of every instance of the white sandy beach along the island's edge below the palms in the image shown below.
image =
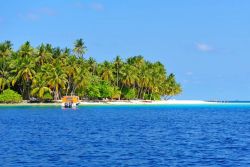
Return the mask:
<path id="1" fill-rule="evenodd" d="M 203 100 L 130 100 L 130 101 L 81 101 L 80 106 L 117 106 L 117 105 L 199 105 L 199 104 L 222 104 L 219 102 L 208 102 Z M 0 104 L 0 106 L 61 106 L 60 101 L 52 103 L 15 103 Z"/>

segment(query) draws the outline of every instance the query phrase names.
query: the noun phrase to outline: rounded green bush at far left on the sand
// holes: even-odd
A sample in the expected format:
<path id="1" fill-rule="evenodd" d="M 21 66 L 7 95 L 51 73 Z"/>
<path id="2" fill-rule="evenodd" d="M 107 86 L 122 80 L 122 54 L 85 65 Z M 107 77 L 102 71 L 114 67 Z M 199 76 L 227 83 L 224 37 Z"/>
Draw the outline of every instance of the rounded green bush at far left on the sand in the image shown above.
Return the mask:
<path id="1" fill-rule="evenodd" d="M 20 103 L 22 102 L 22 96 L 17 92 L 7 89 L 0 94 L 0 103 Z"/>

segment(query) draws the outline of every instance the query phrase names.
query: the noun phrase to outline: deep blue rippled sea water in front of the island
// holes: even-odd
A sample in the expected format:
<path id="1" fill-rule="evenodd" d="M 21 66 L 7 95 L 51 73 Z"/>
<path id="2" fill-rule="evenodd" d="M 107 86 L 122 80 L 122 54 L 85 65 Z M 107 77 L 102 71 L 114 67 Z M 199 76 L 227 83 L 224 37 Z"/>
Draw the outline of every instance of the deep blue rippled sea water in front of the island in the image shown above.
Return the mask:
<path id="1" fill-rule="evenodd" d="M 0 166 L 250 166 L 250 105 L 0 107 Z"/>

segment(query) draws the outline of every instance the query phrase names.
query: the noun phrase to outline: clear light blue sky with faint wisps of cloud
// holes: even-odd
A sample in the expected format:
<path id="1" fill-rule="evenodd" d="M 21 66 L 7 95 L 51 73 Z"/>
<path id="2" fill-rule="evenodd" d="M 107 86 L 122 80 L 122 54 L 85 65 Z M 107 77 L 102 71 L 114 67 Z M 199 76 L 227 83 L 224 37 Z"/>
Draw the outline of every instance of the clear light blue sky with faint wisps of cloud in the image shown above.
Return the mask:
<path id="1" fill-rule="evenodd" d="M 250 100 L 249 0 L 8 0 L 0 41 L 51 43 L 98 62 L 142 55 L 174 73 L 175 99 Z"/>

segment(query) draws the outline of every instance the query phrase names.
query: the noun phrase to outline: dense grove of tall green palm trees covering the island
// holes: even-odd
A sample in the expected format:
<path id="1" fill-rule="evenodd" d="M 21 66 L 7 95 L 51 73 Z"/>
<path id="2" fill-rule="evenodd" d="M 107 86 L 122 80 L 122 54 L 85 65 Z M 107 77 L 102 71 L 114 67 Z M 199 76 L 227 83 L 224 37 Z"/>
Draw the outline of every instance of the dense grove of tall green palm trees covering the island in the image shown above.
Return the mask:
<path id="1" fill-rule="evenodd" d="M 0 93 L 11 89 L 29 100 L 58 100 L 75 94 L 88 99 L 159 99 L 181 93 L 174 74 L 167 75 L 160 62 L 142 56 L 126 61 L 97 63 L 84 58 L 86 47 L 76 40 L 74 49 L 50 44 L 34 48 L 25 42 L 14 51 L 10 41 L 0 43 Z"/>

